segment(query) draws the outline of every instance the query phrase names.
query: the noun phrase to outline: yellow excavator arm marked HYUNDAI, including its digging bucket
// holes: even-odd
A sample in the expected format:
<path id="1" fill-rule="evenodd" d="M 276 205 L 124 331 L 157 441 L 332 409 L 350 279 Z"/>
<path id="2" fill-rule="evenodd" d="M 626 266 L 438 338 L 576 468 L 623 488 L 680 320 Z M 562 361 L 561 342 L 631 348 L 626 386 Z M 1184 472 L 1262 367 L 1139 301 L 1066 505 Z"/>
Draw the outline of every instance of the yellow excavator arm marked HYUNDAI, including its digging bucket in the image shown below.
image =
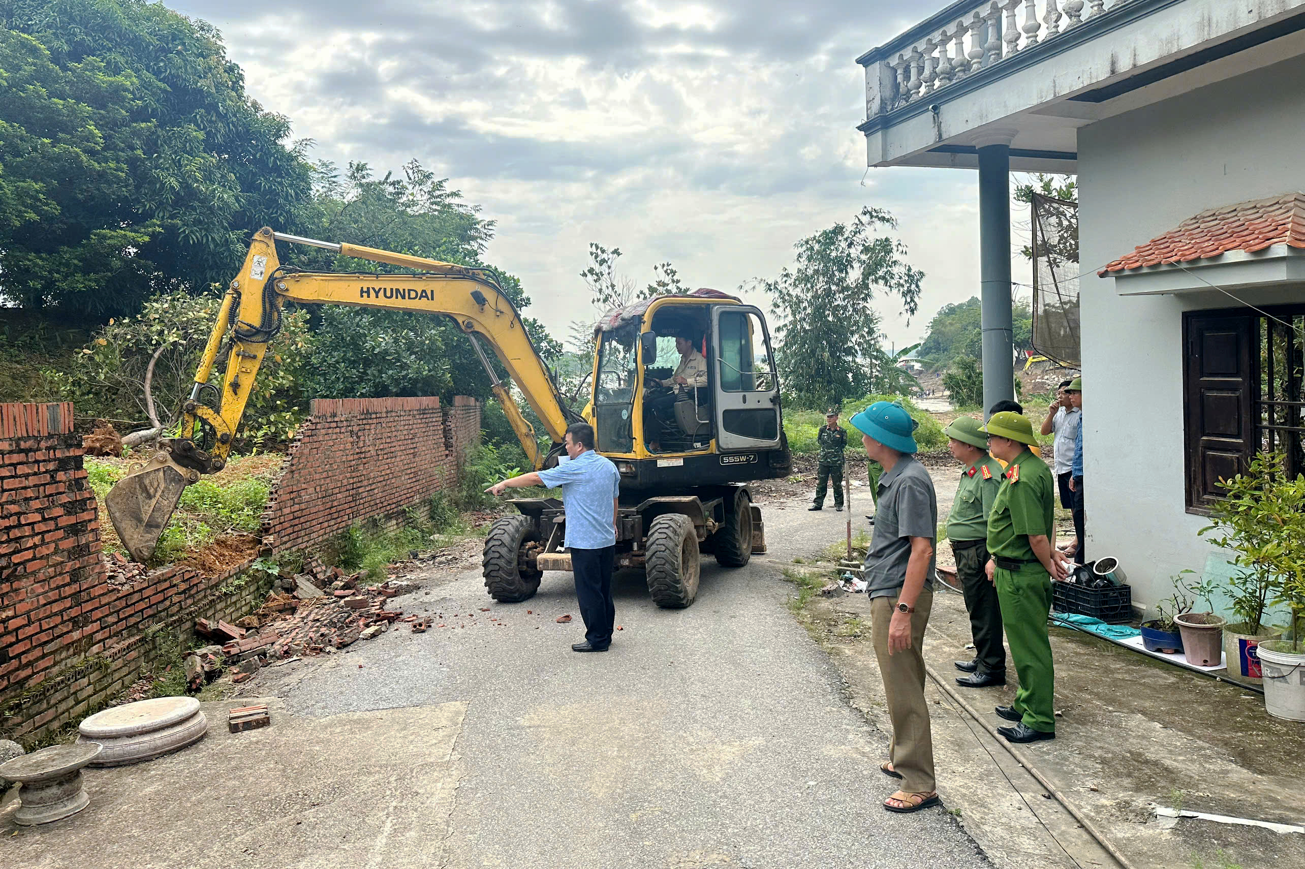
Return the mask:
<path id="1" fill-rule="evenodd" d="M 420 269 L 427 274 L 335 274 L 283 269 L 277 258 L 278 240 Z M 240 273 L 222 299 L 218 320 L 200 359 L 194 388 L 181 408 L 179 437 L 164 440 L 147 463 L 124 476 L 106 497 L 114 527 L 137 561 L 145 561 L 154 553 L 185 487 L 197 481 L 200 475 L 226 466 L 268 344 L 281 329 L 281 312 L 287 299 L 452 317 L 489 373 L 493 394 L 535 470 L 543 467 L 547 457 L 539 450 L 534 428 L 489 364 L 482 342 L 489 344 L 508 369 L 555 444 L 562 441 L 570 423 L 579 420 L 562 403 L 521 316 L 491 271 L 354 244 L 303 239 L 264 227 L 254 234 Z M 224 341 L 230 344 L 226 371 L 221 385 L 213 385 L 209 380 Z M 197 444 L 197 432 L 204 432 L 211 442 Z"/>

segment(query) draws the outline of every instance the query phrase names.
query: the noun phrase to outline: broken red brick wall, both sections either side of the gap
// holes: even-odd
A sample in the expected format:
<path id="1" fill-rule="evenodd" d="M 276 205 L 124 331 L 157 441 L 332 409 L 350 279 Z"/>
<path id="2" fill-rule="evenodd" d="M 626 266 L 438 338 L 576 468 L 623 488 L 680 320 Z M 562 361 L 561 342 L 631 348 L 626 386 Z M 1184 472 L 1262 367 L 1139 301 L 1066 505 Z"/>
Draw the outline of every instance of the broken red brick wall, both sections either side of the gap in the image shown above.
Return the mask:
<path id="1" fill-rule="evenodd" d="M 111 585 L 73 407 L 0 404 L 0 737 L 34 741 L 103 707 L 196 618 L 234 621 L 271 578 L 161 568 Z M 393 515 L 455 479 L 480 406 L 457 398 L 313 402 L 264 517 L 277 551 Z"/>

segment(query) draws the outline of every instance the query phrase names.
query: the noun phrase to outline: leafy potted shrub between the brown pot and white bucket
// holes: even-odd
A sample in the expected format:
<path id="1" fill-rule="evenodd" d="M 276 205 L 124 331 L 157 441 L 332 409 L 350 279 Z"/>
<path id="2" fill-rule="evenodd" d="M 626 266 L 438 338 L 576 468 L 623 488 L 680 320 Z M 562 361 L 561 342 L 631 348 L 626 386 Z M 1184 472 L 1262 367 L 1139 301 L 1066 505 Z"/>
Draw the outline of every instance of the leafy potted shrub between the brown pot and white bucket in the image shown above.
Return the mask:
<path id="1" fill-rule="evenodd" d="M 1229 676 L 1255 684 L 1262 681 L 1257 647 L 1283 633 L 1265 621 L 1274 590 L 1270 553 L 1280 526 L 1266 521 L 1262 497 L 1268 478 L 1282 467 L 1280 461 L 1262 454 L 1245 474 L 1220 480 L 1227 497 L 1211 508 L 1214 525 L 1199 532 L 1202 536 L 1214 532 L 1210 541 L 1235 552 L 1233 564 L 1241 566 L 1229 579 L 1231 608 L 1237 621 L 1224 626 L 1224 656 Z"/>

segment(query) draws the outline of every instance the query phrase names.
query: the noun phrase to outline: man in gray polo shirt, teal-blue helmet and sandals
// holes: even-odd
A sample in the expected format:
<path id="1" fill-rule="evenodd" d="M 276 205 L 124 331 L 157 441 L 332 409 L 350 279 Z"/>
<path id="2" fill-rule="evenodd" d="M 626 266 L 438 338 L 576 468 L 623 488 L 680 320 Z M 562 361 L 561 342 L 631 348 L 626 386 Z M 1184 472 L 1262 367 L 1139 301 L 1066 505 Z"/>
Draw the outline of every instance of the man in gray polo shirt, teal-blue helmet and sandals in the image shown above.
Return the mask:
<path id="1" fill-rule="evenodd" d="M 929 472 L 915 461 L 915 420 L 900 404 L 874 402 L 852 425 L 861 432 L 865 454 L 883 466 L 864 573 L 874 656 L 893 723 L 889 762 L 880 769 L 902 779 L 883 808 L 919 812 L 938 805 L 923 654 L 933 607 L 938 500 Z"/>

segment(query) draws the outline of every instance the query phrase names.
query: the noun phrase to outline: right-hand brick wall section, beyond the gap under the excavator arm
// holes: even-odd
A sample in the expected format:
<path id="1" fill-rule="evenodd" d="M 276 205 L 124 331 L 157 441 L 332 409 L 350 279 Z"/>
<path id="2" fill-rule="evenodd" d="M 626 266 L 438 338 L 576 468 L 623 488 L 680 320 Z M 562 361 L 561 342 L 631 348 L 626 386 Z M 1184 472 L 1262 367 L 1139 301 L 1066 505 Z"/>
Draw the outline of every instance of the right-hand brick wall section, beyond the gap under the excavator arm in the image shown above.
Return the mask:
<path id="1" fill-rule="evenodd" d="M 480 404 L 438 398 L 317 399 L 264 514 L 278 549 L 325 540 L 360 519 L 395 517 L 454 484 L 480 437 Z"/>

